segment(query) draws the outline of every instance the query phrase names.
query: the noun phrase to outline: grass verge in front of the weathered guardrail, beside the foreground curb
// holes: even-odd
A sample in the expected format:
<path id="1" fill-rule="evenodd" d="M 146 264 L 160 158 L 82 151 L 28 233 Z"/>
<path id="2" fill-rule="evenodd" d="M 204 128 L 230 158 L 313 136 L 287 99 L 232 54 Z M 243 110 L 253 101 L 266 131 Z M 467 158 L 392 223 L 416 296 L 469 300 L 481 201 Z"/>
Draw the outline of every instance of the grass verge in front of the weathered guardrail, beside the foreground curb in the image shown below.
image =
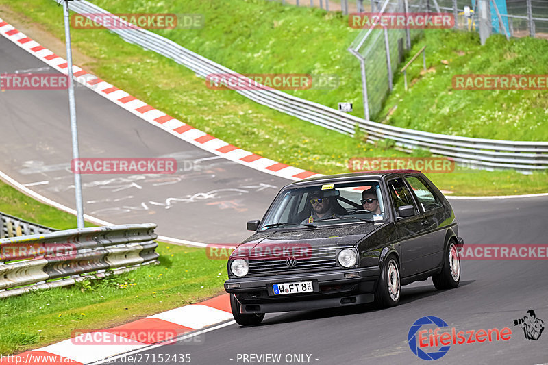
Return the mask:
<path id="1" fill-rule="evenodd" d="M 222 291 L 226 260 L 208 259 L 205 249 L 158 244 L 159 265 L 0 299 L 0 354 L 66 340 L 75 330 L 115 327 Z"/>

